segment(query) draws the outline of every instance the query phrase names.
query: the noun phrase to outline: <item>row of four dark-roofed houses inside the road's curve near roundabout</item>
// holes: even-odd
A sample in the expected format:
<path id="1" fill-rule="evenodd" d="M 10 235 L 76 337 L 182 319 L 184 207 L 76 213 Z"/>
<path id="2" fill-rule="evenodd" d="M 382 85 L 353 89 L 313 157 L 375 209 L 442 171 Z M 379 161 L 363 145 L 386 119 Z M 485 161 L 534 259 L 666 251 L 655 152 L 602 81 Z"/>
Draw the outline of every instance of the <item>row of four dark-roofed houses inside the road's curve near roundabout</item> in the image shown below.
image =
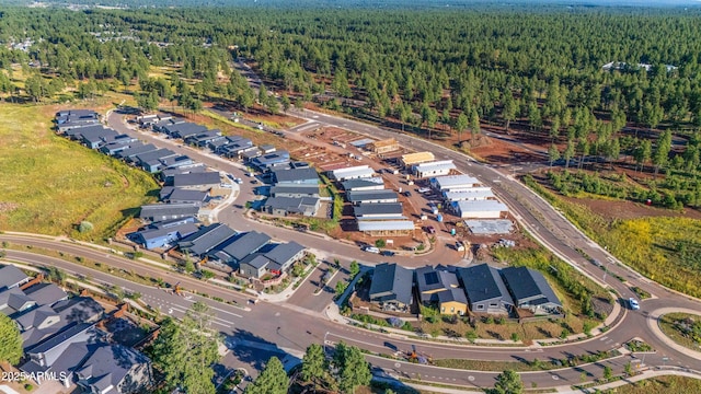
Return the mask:
<path id="1" fill-rule="evenodd" d="M 394 263 L 375 267 L 370 302 L 381 311 L 411 313 L 417 304 L 436 306 L 443 314 L 513 315 L 560 313 L 562 303 L 542 274 L 527 267 L 467 268 L 425 266 L 407 269 Z M 522 313 L 521 313 L 522 314 Z"/>

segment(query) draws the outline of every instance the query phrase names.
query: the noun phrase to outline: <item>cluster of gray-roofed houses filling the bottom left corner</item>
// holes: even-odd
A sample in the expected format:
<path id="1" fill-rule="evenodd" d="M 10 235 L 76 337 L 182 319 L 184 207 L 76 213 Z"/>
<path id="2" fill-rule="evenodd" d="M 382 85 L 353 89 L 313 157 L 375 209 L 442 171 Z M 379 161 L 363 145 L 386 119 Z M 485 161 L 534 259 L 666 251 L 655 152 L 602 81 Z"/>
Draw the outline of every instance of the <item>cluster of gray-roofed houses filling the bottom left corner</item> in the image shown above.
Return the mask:
<path id="1" fill-rule="evenodd" d="M 58 380 L 88 393 L 148 392 L 153 386 L 151 361 L 118 344 L 114 329 L 119 313 L 107 315 L 94 299 L 71 296 L 60 287 L 32 278 L 15 266 L 0 266 L 0 313 L 16 324 L 23 340 L 20 371 L 39 385 Z M 133 323 L 131 323 L 133 324 Z M 136 327 L 136 325 L 134 325 Z"/>

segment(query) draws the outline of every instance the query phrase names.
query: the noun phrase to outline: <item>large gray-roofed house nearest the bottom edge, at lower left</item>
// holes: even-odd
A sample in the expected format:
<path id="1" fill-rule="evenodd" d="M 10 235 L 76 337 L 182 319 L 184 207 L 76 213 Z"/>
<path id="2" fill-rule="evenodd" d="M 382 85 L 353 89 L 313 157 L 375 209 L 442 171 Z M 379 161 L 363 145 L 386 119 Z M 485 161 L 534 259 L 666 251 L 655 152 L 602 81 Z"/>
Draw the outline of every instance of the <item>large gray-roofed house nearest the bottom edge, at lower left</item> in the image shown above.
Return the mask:
<path id="1" fill-rule="evenodd" d="M 122 345 L 97 348 L 76 371 L 78 385 L 88 393 L 148 392 L 153 385 L 151 360 Z"/>

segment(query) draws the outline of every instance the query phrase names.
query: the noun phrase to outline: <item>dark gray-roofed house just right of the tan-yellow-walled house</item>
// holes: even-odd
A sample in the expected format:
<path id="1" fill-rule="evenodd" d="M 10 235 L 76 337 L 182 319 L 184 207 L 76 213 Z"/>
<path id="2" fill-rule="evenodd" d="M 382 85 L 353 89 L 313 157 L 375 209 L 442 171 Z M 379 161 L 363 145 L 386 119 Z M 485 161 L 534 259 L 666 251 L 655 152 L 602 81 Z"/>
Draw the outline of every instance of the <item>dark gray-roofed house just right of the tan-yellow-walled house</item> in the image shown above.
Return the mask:
<path id="1" fill-rule="evenodd" d="M 470 310 L 475 313 L 508 314 L 514 301 L 498 269 L 486 264 L 459 268 L 458 276 L 468 294 Z"/>

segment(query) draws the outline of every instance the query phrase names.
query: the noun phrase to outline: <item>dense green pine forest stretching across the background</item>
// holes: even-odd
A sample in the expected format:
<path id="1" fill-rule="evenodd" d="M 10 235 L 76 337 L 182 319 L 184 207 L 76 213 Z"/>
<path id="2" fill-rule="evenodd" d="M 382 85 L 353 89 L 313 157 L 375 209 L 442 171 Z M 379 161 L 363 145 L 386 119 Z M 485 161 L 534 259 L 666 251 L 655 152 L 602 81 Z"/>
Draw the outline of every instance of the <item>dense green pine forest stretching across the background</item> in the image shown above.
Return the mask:
<path id="1" fill-rule="evenodd" d="M 691 176 L 674 204 L 699 205 L 701 10 L 428 5 L 9 7 L 0 91 L 46 102 L 126 90 L 147 108 L 228 100 L 246 109 L 256 93 L 232 68 L 243 58 L 283 101 L 420 130 L 525 130 L 552 141 L 551 159 L 567 164 L 623 154 L 636 169 Z M 163 66 L 174 71 L 149 77 Z M 18 67 L 22 80 L 10 72 Z M 257 100 L 278 111 L 265 94 Z"/>

